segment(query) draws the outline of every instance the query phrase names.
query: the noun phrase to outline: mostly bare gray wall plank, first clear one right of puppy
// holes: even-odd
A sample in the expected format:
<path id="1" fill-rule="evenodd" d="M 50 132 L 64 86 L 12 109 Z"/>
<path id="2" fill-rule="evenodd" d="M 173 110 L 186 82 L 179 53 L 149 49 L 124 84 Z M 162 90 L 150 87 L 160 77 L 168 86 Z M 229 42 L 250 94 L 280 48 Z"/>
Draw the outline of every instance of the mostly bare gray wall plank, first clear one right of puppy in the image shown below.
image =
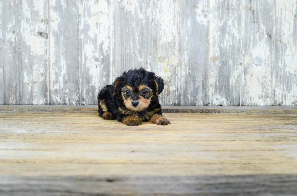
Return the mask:
<path id="1" fill-rule="evenodd" d="M 209 8 L 208 2 L 179 1 L 180 49 L 178 102 L 180 105 L 210 105 L 209 82 Z"/>

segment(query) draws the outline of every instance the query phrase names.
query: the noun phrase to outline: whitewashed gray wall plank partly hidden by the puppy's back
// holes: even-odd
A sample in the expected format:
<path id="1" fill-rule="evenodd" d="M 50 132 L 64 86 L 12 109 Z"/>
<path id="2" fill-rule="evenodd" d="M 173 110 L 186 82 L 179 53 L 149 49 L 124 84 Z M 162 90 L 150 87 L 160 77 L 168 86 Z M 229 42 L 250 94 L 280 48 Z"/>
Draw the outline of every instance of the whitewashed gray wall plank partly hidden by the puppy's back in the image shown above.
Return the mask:
<path id="1" fill-rule="evenodd" d="M 98 104 L 99 90 L 110 84 L 110 1 L 79 1 L 79 104 Z"/>

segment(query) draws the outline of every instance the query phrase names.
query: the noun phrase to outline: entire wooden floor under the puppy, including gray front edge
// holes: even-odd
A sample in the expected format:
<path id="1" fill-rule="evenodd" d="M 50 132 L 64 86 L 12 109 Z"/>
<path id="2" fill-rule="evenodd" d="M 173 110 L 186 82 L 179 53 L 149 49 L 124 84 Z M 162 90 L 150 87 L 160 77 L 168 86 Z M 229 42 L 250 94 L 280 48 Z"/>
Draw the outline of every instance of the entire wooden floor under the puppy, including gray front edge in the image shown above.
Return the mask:
<path id="1" fill-rule="evenodd" d="M 0 195 L 297 195 L 297 114 L 0 110 Z"/>

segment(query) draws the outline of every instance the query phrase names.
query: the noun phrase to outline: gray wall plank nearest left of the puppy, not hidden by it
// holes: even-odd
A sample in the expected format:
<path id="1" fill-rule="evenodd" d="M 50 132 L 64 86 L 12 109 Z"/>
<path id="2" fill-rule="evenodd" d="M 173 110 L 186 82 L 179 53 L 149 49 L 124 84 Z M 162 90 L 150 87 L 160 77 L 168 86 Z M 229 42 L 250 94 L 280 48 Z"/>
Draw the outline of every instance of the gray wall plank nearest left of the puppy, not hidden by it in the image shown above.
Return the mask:
<path id="1" fill-rule="evenodd" d="M 49 0 L 49 104 L 80 103 L 79 17 L 77 1 Z"/>

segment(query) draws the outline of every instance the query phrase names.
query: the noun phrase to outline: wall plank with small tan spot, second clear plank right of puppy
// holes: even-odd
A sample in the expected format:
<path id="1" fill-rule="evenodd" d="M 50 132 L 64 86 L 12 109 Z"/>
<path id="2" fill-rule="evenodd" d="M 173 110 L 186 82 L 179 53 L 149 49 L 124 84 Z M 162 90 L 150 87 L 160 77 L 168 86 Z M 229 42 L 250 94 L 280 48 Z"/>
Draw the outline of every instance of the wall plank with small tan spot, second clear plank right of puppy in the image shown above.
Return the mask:
<path id="1" fill-rule="evenodd" d="M 240 105 L 242 2 L 209 2 L 209 89 L 210 105 Z M 202 40 L 205 42 L 204 40 Z"/>

